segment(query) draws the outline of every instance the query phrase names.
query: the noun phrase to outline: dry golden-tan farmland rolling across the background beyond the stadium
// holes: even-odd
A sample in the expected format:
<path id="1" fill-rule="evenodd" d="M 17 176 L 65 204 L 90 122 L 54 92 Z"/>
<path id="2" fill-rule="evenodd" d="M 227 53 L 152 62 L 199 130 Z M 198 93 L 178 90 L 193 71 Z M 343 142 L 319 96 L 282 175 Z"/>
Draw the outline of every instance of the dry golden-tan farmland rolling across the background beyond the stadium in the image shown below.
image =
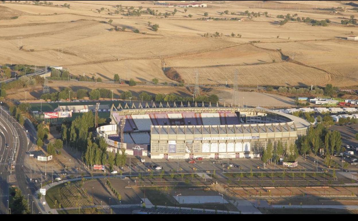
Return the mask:
<path id="1" fill-rule="evenodd" d="M 66 1 L 69 7 L 49 2 L 0 4 L 0 64 L 63 66 L 73 75 L 96 74 L 103 80 L 117 73 L 126 80 L 171 82 L 165 75 L 170 69 L 189 84 L 195 70 L 206 85 L 231 84 L 237 69 L 241 85 L 358 85 L 358 41 L 347 40 L 358 35 L 358 26 L 341 24 L 351 15 L 357 21 L 358 10 L 345 4 L 358 1 L 203 1 L 207 8 L 187 11 L 153 1 Z M 127 15 L 131 7 L 141 15 Z M 248 17 L 246 10 L 260 16 Z M 205 12 L 214 20 L 202 20 Z M 281 26 L 281 14 L 330 23 Z M 244 20 L 232 20 L 238 18 Z"/>

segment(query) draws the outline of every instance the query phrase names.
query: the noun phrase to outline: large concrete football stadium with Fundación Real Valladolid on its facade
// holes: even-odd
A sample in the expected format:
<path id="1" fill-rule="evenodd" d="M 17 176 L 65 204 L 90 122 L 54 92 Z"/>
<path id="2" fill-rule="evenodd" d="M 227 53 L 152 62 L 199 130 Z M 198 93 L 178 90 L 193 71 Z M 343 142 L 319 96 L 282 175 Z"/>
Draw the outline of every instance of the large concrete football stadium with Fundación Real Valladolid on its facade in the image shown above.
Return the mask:
<path id="1" fill-rule="evenodd" d="M 299 117 L 260 107 L 132 106 L 117 110 L 112 105 L 111 124 L 98 127 L 97 133 L 105 138 L 110 152 L 120 151 L 123 134 L 123 148 L 130 155 L 222 159 L 260 157 L 270 142 L 275 146 L 281 141 L 289 150 L 310 125 Z"/>

